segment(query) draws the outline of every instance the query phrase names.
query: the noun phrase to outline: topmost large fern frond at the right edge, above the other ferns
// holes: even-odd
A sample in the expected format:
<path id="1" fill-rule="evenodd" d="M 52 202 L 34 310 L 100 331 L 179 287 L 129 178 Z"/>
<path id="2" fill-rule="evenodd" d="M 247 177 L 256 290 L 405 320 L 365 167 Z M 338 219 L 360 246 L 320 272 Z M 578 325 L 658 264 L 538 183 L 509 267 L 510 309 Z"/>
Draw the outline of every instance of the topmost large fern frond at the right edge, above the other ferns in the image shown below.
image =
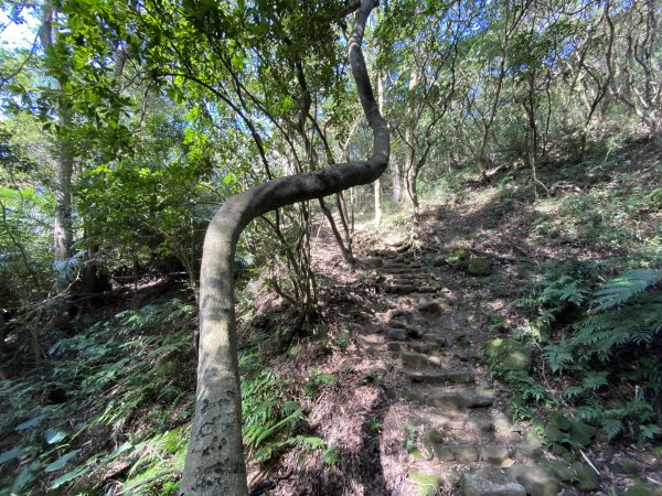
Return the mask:
<path id="1" fill-rule="evenodd" d="M 662 281 L 662 270 L 630 270 L 607 281 L 594 293 L 592 311 L 601 312 L 621 305 L 660 281 Z"/>

